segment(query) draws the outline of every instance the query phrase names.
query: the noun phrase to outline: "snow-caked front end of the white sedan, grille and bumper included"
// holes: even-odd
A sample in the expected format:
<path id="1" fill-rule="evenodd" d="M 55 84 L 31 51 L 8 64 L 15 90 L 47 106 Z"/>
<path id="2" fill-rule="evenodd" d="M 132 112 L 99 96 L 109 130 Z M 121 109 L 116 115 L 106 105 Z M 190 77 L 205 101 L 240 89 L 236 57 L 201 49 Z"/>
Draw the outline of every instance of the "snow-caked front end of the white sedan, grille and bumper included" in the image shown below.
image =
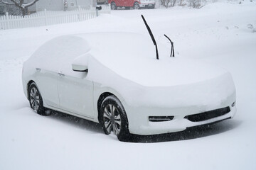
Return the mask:
<path id="1" fill-rule="evenodd" d="M 132 134 L 156 135 L 183 131 L 189 127 L 233 118 L 236 113 L 235 86 L 230 74 L 198 84 L 144 87 L 142 91 L 133 101 L 124 99 L 122 102 Z M 194 115 L 200 116 L 197 118 Z M 170 120 L 150 120 L 164 116 Z"/>

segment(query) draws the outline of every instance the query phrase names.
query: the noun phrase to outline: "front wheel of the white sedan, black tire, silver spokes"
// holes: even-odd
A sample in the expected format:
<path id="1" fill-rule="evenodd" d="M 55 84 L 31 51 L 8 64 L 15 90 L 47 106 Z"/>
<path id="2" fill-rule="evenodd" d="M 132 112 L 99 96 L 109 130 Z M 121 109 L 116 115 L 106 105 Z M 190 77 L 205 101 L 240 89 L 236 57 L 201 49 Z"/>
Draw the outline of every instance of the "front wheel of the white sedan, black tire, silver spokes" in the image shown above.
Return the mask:
<path id="1" fill-rule="evenodd" d="M 100 107 L 100 122 L 106 135 L 111 132 L 118 140 L 128 141 L 130 134 L 127 115 L 122 103 L 115 96 L 107 96 Z"/>

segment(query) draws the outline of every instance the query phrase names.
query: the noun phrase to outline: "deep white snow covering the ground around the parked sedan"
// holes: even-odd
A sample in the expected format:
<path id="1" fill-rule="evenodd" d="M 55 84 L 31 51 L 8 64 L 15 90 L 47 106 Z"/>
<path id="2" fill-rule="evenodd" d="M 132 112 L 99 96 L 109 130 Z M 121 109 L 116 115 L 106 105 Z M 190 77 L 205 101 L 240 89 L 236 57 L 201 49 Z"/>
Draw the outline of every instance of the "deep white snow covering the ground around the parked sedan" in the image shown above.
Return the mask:
<path id="1" fill-rule="evenodd" d="M 104 135 L 100 125 L 87 120 L 31 111 L 21 70 L 37 47 L 70 33 L 148 35 L 141 14 L 158 42 L 169 47 L 164 33 L 170 36 L 176 57 L 217 64 L 233 74 L 235 118 L 134 143 Z M 118 10 L 82 23 L 0 30 L 0 169 L 256 169 L 255 16 L 255 1 L 242 1 L 200 9 Z"/>

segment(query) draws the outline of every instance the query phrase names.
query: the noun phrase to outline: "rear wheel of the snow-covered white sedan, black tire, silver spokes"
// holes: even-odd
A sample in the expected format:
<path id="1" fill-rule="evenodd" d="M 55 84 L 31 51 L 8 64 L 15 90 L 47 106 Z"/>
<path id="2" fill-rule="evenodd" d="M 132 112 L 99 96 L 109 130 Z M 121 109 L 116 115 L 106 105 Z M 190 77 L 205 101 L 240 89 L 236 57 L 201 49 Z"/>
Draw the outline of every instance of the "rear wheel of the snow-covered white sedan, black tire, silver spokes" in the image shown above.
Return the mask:
<path id="1" fill-rule="evenodd" d="M 46 112 L 46 109 L 43 107 L 43 99 L 36 83 L 32 83 L 29 86 L 28 101 L 31 108 L 39 115 L 50 115 L 50 112 Z"/>

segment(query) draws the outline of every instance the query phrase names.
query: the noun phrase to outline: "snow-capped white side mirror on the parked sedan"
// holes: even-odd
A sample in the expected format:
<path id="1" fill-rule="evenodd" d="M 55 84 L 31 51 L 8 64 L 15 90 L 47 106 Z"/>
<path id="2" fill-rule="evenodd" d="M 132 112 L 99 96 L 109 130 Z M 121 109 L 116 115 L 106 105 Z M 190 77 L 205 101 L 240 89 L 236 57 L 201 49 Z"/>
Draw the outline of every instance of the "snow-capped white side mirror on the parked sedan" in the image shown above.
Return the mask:
<path id="1" fill-rule="evenodd" d="M 75 58 L 75 60 L 72 63 L 72 69 L 75 72 L 88 72 L 88 60 L 90 54 L 86 55 L 80 55 Z"/>

